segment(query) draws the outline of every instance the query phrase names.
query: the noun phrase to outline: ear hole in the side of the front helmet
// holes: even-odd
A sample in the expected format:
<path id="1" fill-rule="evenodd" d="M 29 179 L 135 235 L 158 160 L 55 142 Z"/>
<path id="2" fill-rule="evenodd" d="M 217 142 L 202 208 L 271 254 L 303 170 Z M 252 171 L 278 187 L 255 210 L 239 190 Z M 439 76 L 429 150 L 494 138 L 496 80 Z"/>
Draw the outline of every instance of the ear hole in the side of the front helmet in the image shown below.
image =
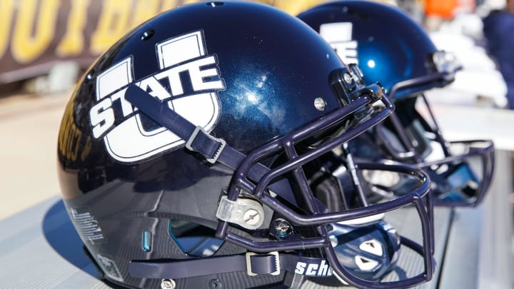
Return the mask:
<path id="1" fill-rule="evenodd" d="M 215 230 L 187 220 L 170 220 L 168 233 L 183 253 L 195 257 L 214 255 L 224 242 Z"/>

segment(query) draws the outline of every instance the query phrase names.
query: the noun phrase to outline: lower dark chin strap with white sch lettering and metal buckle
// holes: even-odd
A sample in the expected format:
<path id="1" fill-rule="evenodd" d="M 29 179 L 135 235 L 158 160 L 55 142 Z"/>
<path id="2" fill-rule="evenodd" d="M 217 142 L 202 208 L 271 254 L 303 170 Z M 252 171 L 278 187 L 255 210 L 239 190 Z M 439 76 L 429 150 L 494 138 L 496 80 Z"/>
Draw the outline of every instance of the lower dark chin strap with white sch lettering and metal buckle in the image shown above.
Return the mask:
<path id="1" fill-rule="evenodd" d="M 244 270 L 248 275 L 278 274 L 281 270 L 316 277 L 332 275 L 332 268 L 326 259 L 288 253 L 279 255 L 278 252 L 172 261 L 132 260 L 129 263 L 129 273 L 136 278 L 189 278 Z"/>

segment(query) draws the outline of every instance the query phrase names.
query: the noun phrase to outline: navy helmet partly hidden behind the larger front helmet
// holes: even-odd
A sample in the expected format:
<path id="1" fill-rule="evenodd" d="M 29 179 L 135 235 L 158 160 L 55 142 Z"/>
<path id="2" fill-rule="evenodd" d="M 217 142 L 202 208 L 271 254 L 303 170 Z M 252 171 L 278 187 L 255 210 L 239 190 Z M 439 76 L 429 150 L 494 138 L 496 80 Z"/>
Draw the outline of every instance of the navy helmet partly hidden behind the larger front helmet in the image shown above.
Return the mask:
<path id="1" fill-rule="evenodd" d="M 386 4 L 335 1 L 298 18 L 316 29 L 346 64 L 358 64 L 366 81 L 380 81 L 395 103 L 395 112 L 386 121 L 350 142 L 354 156 L 424 169 L 436 205 L 477 206 L 493 177 L 493 142 L 445 141 L 423 96 L 423 91 L 453 81 L 460 69 L 455 57 L 435 49 L 420 25 Z M 405 184 L 402 178 L 376 173 L 365 178 L 382 179 L 378 182 L 388 187 Z M 373 188 L 381 198 L 395 198 L 393 191 Z"/>

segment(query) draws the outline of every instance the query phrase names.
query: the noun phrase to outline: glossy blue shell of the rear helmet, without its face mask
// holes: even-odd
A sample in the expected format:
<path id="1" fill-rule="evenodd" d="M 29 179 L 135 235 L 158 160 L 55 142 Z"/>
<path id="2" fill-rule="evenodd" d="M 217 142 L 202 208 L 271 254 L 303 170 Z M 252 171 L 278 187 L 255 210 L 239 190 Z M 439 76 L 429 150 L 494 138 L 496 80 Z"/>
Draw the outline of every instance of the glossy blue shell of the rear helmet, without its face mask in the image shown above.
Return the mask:
<path id="1" fill-rule="evenodd" d="M 334 1 L 298 15 L 326 39 L 346 64 L 357 63 L 368 83 L 388 92 L 400 82 L 436 72 L 437 51 L 423 28 L 400 9 L 373 1 Z M 424 83 L 395 93 L 395 99 L 441 86 Z"/>

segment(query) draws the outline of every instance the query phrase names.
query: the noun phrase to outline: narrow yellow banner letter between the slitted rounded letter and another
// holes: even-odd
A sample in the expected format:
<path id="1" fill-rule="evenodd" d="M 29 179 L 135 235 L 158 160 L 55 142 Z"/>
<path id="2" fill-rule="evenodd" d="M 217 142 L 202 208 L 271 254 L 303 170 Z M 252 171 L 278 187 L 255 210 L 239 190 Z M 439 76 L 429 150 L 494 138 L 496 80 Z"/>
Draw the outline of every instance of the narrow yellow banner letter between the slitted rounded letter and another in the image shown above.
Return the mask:
<path id="1" fill-rule="evenodd" d="M 76 56 L 84 49 L 84 27 L 87 22 L 89 0 L 70 0 L 71 10 L 66 33 L 56 48 L 58 56 Z"/>

